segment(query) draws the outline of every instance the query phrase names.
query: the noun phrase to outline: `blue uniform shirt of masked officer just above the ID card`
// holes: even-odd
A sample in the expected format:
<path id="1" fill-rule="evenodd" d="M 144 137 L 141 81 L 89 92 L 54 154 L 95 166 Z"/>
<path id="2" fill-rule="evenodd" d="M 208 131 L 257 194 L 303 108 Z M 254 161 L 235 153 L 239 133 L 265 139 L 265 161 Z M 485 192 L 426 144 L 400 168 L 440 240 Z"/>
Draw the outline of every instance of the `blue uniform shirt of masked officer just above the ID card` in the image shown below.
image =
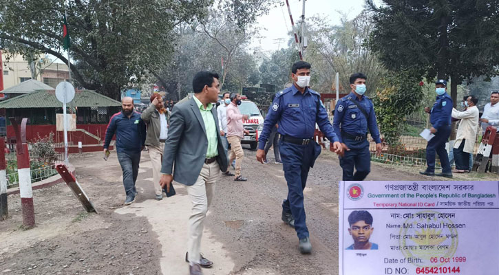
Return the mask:
<path id="1" fill-rule="evenodd" d="M 354 102 L 352 102 L 352 99 Z M 362 113 L 361 106 L 369 118 L 365 118 Z M 374 142 L 381 143 L 379 136 L 378 124 L 376 123 L 376 114 L 374 113 L 374 104 L 368 96 L 362 96 L 361 99 L 357 98 L 353 92 L 338 100 L 335 107 L 335 118 L 332 126 L 335 133 L 338 135 L 340 142 L 343 142 L 341 131 L 349 133 L 350 135 L 365 135 L 368 129 L 371 133 Z"/>

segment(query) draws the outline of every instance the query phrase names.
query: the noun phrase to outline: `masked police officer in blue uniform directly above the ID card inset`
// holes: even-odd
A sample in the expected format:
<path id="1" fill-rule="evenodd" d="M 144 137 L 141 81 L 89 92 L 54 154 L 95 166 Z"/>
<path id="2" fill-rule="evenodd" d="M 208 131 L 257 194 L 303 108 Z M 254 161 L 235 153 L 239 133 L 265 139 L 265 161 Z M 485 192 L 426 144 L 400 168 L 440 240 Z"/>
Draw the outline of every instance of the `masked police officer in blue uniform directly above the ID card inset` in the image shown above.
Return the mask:
<path id="1" fill-rule="evenodd" d="M 343 168 L 344 181 L 361 181 L 370 173 L 368 129 L 376 142 L 376 153 L 380 154 L 383 148 L 374 105 L 368 96 L 364 96 L 367 79 L 365 74 L 352 74 L 352 92 L 338 100 L 335 107 L 332 126 L 343 147 L 343 153 L 339 155 L 339 165 Z M 357 169 L 355 173 L 354 168 Z"/>

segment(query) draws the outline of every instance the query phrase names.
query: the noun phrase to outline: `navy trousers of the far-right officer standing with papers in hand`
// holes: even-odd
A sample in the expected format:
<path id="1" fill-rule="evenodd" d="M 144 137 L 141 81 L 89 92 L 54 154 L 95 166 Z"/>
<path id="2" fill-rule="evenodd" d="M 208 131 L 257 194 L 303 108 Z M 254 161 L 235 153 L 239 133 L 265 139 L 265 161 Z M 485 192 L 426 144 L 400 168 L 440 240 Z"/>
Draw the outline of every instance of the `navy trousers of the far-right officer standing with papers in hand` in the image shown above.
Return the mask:
<path id="1" fill-rule="evenodd" d="M 435 173 L 435 152 L 440 158 L 440 164 L 442 165 L 442 173 L 452 173 L 452 169 L 449 163 L 449 156 L 445 150 L 445 142 L 449 139 L 451 134 L 451 126 L 442 126 L 438 131 L 436 131 L 435 136 L 429 140 L 426 145 L 426 168 L 427 172 Z"/>

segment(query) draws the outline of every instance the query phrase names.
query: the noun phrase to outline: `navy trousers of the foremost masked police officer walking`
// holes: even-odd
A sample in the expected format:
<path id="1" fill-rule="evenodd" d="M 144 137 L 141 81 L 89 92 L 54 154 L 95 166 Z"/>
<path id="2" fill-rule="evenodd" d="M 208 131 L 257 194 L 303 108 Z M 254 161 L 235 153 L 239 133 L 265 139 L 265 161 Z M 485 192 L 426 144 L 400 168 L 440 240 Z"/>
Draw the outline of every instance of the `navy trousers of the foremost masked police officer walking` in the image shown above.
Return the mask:
<path id="1" fill-rule="evenodd" d="M 308 170 L 321 153 L 321 147 L 313 141 L 310 141 L 309 144 L 299 145 L 281 140 L 279 153 L 281 154 L 284 177 L 288 183 L 288 198 L 283 201 L 282 208 L 284 212 L 293 215 L 298 238 L 304 239 L 309 236 L 305 222 L 304 188 Z"/>

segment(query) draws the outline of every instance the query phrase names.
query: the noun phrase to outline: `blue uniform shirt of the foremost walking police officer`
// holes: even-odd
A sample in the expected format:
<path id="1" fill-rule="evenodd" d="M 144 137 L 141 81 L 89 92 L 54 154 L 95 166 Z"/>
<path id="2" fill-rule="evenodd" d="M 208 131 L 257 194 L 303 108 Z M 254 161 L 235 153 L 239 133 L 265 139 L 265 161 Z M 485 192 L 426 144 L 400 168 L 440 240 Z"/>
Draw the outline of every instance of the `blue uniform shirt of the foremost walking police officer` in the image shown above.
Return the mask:
<path id="1" fill-rule="evenodd" d="M 328 140 L 339 141 L 328 120 L 328 113 L 321 102 L 320 94 L 309 88 L 301 94 L 297 87 L 292 85 L 276 94 L 268 109 L 262 134 L 259 136 L 259 149 L 265 148 L 270 130 L 276 123 L 279 125 L 277 132 L 281 135 L 300 139 L 314 137 L 317 123 Z"/>

